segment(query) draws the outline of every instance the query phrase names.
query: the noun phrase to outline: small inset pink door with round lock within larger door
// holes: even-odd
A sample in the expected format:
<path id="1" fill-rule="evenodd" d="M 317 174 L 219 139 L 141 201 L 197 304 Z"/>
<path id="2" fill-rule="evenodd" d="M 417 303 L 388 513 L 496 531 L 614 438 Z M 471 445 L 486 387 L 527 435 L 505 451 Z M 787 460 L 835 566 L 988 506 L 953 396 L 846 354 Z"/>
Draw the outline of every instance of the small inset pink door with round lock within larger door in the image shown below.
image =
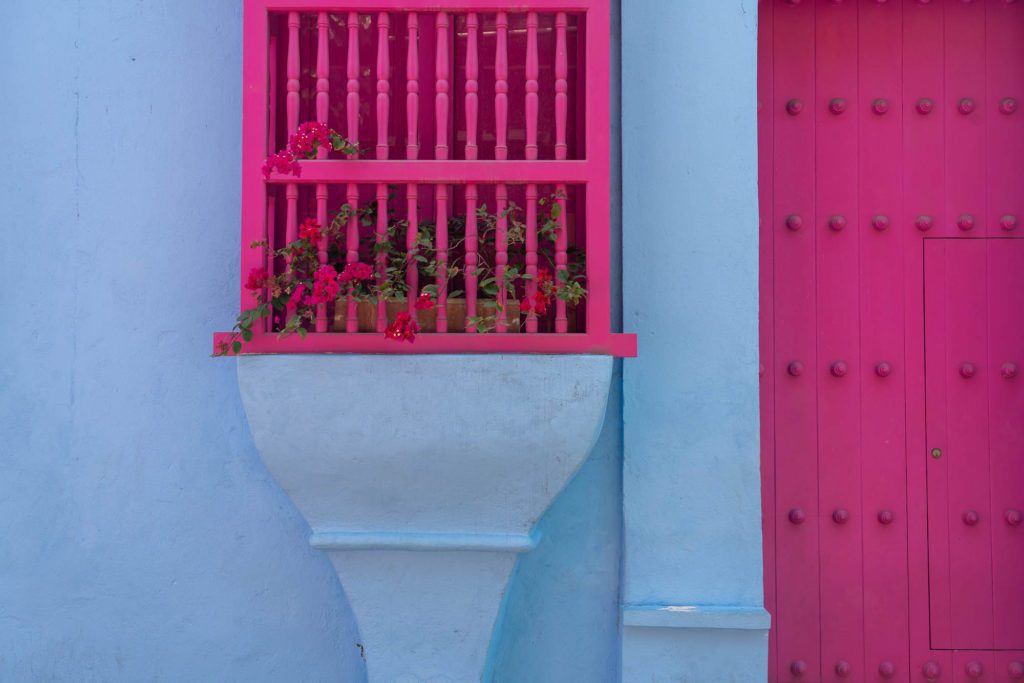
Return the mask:
<path id="1" fill-rule="evenodd" d="M 1024 241 L 925 241 L 931 645 L 1024 648 Z"/>

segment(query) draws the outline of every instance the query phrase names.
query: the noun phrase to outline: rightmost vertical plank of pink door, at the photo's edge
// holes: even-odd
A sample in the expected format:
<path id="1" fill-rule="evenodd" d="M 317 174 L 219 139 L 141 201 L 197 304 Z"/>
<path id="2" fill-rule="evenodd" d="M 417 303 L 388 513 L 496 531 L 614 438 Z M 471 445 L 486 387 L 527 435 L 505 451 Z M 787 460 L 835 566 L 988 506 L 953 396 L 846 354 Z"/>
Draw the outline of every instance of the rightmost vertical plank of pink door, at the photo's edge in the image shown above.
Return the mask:
<path id="1" fill-rule="evenodd" d="M 1019 236 L 1015 225 L 1024 212 L 1024 5 L 986 2 L 987 91 L 985 101 L 986 227 L 989 237 Z M 1010 228 L 1010 229 L 1008 229 Z M 995 647 L 1024 647 L 1024 330 L 1020 293 L 1024 291 L 1024 242 L 998 241 L 989 246 L 989 325 L 992 405 L 992 592 Z M 1014 374 L 1016 373 L 1016 374 Z M 1009 515 L 1009 516 L 1008 516 Z M 1021 652 L 996 652 L 995 675 Z"/>

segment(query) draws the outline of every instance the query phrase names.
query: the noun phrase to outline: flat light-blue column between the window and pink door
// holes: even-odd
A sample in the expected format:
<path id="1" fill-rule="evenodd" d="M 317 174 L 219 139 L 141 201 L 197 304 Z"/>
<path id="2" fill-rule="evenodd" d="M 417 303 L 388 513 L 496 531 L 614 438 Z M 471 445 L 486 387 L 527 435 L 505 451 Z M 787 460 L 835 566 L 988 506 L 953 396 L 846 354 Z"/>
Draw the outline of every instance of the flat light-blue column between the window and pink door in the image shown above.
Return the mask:
<path id="1" fill-rule="evenodd" d="M 623 680 L 767 676 L 757 3 L 623 2 Z"/>

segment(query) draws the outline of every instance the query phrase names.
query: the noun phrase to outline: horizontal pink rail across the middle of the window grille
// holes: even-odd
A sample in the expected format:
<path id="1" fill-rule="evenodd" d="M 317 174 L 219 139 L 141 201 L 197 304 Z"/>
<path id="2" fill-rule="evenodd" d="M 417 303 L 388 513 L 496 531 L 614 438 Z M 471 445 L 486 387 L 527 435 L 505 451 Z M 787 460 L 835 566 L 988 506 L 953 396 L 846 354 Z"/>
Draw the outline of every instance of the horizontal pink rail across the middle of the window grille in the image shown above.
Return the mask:
<path id="1" fill-rule="evenodd" d="M 303 161 L 302 175 L 274 173 L 270 182 L 585 183 L 601 170 L 586 161 Z M 604 170 L 607 175 L 607 170 Z"/>

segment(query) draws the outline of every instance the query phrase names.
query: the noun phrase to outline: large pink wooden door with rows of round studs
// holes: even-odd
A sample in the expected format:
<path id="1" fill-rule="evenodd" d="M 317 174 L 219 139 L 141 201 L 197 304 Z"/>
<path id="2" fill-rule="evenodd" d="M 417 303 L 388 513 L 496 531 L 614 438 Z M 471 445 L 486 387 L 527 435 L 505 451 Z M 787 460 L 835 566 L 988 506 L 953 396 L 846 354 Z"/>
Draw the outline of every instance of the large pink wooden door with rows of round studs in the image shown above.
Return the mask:
<path id="1" fill-rule="evenodd" d="M 769 678 L 1024 681 L 1024 2 L 759 32 Z"/>

